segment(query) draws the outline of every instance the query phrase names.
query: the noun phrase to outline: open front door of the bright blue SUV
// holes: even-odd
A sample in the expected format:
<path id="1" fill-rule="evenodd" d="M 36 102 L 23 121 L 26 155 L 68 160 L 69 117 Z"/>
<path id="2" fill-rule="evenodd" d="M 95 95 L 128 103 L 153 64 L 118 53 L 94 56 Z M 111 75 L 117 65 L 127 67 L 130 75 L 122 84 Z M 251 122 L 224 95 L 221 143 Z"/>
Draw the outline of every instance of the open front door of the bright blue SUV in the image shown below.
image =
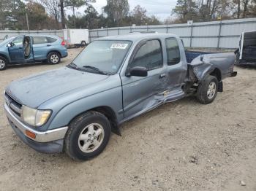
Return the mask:
<path id="1" fill-rule="evenodd" d="M 10 47 L 8 47 L 10 59 L 14 63 L 25 62 L 23 40 L 24 36 L 18 36 L 10 43 Z"/>

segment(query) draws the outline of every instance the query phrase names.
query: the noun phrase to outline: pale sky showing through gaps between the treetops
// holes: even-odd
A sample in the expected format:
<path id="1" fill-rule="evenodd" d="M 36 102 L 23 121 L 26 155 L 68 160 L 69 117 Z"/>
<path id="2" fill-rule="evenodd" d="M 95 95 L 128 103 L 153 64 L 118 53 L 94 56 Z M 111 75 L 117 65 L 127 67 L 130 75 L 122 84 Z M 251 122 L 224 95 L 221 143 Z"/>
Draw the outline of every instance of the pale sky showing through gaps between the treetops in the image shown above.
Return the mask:
<path id="1" fill-rule="evenodd" d="M 147 15 L 156 15 L 160 20 L 165 20 L 170 16 L 171 9 L 176 5 L 176 0 L 128 0 L 130 9 L 132 10 L 136 5 L 146 8 Z M 107 4 L 106 0 L 96 0 L 96 3 L 92 4 L 99 13 L 101 13 L 102 7 Z M 83 12 L 85 7 L 80 7 L 78 12 Z M 69 14 L 69 12 L 68 12 Z"/>

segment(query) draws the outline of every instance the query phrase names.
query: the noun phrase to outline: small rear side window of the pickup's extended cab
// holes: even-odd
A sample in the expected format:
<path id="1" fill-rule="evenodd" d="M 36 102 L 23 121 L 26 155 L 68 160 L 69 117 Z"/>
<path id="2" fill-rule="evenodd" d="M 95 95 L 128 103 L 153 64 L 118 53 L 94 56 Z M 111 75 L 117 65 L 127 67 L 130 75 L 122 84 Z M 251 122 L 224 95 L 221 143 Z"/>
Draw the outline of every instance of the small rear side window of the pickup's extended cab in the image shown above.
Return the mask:
<path id="1" fill-rule="evenodd" d="M 181 55 L 177 40 L 175 38 L 165 39 L 165 44 L 168 66 L 179 63 L 181 61 Z"/>

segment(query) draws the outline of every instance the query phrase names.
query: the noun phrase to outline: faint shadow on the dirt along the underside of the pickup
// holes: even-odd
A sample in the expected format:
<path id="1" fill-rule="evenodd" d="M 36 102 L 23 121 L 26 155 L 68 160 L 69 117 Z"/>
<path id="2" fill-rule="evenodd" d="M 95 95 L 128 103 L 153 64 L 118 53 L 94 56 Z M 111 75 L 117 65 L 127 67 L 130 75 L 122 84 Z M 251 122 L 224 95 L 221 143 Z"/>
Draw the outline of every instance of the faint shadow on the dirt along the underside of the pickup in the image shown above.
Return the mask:
<path id="1" fill-rule="evenodd" d="M 133 133 L 142 133 L 141 130 L 142 128 L 138 128 L 141 125 L 143 125 L 144 122 L 148 120 L 152 120 L 153 117 L 157 117 L 158 119 L 162 118 L 162 114 L 166 115 L 174 115 L 177 117 L 181 117 L 181 111 L 186 110 L 188 107 L 192 106 L 199 106 L 199 104 L 196 101 L 195 96 L 189 96 L 187 98 L 182 98 L 181 100 L 174 101 L 171 103 L 166 103 L 163 104 L 162 106 L 159 106 L 157 109 L 153 109 L 150 112 L 146 112 L 145 114 L 141 114 L 138 117 L 135 117 L 132 120 L 129 120 L 127 122 L 124 122 L 120 128 L 121 128 L 121 133 L 122 136 L 116 136 L 114 133 L 112 133 L 112 136 L 110 137 L 110 143 L 108 144 L 107 148 L 105 149 L 104 152 L 102 152 L 101 155 L 98 157 L 95 157 L 91 160 L 86 160 L 88 163 L 94 163 L 95 161 L 102 160 L 102 158 L 108 158 L 111 156 L 111 152 L 113 152 L 113 148 L 116 148 L 116 145 L 118 145 L 119 141 L 122 141 L 121 139 L 124 139 L 129 136 L 130 131 L 132 130 Z M 159 127 L 155 127 L 159 128 Z M 39 152 L 34 151 L 34 149 L 31 149 L 28 147 L 26 144 L 24 144 L 22 141 L 18 139 L 17 140 L 19 147 L 15 148 L 16 152 L 13 152 L 12 155 L 16 155 L 19 152 L 27 153 L 27 157 L 23 157 L 23 162 L 20 163 L 25 163 L 27 160 L 33 160 L 35 161 L 35 164 L 37 165 L 53 165 L 53 164 L 62 164 L 62 165 L 68 165 L 70 162 L 73 164 L 80 164 L 81 161 L 75 161 L 69 158 L 64 152 L 63 153 L 56 153 L 56 154 L 42 154 Z M 19 149 L 17 151 L 17 149 Z M 19 156 L 17 155 L 17 158 Z M 86 162 L 85 161 L 85 162 Z M 83 162 L 83 161 L 82 161 Z M 61 165 L 61 166 L 62 166 Z"/>

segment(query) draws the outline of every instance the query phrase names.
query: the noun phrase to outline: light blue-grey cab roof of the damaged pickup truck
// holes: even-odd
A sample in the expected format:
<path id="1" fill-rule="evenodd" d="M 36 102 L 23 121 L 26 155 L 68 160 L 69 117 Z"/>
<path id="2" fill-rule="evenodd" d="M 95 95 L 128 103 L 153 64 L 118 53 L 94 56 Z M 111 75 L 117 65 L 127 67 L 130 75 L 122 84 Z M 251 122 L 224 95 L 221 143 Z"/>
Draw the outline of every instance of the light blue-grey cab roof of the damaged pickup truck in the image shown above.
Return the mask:
<path id="1" fill-rule="evenodd" d="M 143 39 L 152 39 L 152 38 L 168 38 L 176 37 L 175 34 L 162 34 L 162 33 L 131 33 L 126 35 L 116 35 L 116 36 L 105 36 L 97 40 L 129 40 L 132 42 L 143 40 Z"/>

